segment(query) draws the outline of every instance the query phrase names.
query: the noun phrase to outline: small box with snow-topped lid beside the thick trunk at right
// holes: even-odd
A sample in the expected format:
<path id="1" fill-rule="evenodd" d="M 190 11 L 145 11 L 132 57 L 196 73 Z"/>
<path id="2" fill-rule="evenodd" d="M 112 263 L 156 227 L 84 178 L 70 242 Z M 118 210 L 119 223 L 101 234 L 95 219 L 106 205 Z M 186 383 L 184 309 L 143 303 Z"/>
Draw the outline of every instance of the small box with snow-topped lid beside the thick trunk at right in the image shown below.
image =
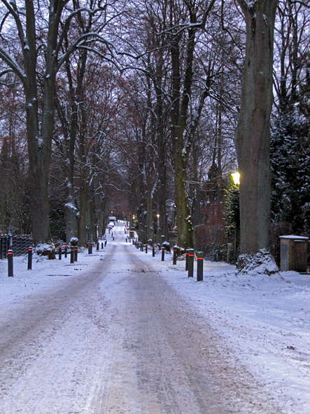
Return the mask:
<path id="1" fill-rule="evenodd" d="M 307 272 L 307 245 L 309 238 L 303 236 L 280 236 L 281 272 L 295 270 Z"/>

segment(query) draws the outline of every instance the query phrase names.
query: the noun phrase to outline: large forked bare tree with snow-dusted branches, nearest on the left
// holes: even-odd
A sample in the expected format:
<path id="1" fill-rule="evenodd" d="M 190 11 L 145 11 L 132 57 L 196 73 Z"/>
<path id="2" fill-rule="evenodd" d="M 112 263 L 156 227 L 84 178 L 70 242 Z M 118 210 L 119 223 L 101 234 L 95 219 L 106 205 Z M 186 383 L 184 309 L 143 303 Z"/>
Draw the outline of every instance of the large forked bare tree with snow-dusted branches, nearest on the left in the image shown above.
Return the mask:
<path id="1" fill-rule="evenodd" d="M 91 3 L 94 1 L 90 0 Z M 34 243 L 50 237 L 48 220 L 48 172 L 54 130 L 57 72 L 76 48 L 92 41 L 108 43 L 96 33 L 73 36 L 66 53 L 64 39 L 79 13 L 95 13 L 77 1 L 50 0 L 24 4 L 1 0 L 0 58 L 20 79 L 27 114 L 30 175 L 30 208 Z M 97 11 L 101 9 L 101 1 Z M 103 10 L 103 9 L 101 9 Z M 16 38 L 13 39 L 13 24 Z"/>

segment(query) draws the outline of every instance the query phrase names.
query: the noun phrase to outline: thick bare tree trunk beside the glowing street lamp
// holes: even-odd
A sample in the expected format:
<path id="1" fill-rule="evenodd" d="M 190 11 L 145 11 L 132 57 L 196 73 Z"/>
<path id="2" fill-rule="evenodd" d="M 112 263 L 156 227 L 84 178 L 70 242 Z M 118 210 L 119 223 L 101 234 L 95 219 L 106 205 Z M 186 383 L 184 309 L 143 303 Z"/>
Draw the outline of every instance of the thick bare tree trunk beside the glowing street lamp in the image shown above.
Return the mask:
<path id="1" fill-rule="evenodd" d="M 278 0 L 238 0 L 246 20 L 241 108 L 234 136 L 240 173 L 241 253 L 270 246 L 269 161 L 274 20 Z"/>

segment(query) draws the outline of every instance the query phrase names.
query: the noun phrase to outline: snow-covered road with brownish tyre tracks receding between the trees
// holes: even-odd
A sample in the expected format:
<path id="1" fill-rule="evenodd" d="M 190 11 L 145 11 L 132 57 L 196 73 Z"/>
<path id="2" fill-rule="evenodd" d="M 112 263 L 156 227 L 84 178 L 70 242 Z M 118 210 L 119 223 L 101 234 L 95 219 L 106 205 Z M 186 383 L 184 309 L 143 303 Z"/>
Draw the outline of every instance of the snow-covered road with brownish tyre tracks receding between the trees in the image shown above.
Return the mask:
<path id="1" fill-rule="evenodd" d="M 169 283 L 167 263 L 125 243 L 122 225 L 113 235 L 3 298 L 0 413 L 287 412 Z"/>

